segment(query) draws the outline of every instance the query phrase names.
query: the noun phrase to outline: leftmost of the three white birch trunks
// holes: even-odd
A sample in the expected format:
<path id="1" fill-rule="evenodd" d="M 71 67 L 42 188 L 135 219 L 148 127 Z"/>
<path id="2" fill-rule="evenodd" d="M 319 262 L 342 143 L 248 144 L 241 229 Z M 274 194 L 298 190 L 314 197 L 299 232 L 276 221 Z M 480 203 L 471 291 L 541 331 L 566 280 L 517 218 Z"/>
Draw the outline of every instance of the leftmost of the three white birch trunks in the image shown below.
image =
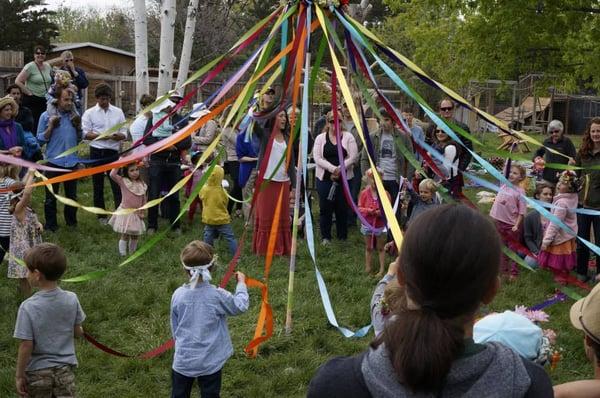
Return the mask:
<path id="1" fill-rule="evenodd" d="M 150 93 L 148 81 L 148 23 L 146 0 L 135 0 L 135 109 L 140 110 L 142 94 Z"/>

